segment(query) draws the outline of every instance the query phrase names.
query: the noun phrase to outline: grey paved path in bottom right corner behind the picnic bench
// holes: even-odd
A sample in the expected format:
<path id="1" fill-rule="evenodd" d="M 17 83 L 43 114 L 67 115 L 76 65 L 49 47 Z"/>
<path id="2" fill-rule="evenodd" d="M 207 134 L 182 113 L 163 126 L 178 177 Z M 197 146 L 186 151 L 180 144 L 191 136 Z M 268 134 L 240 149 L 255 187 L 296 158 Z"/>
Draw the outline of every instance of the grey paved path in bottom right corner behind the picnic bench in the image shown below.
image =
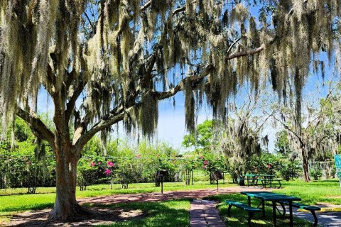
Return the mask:
<path id="1" fill-rule="evenodd" d="M 287 209 L 288 210 L 288 209 Z M 297 209 L 293 210 L 293 215 L 314 222 L 313 215 L 310 212 L 298 212 Z M 336 227 L 341 226 L 341 213 L 340 212 L 316 212 L 318 216 L 318 224 L 323 227 Z"/>

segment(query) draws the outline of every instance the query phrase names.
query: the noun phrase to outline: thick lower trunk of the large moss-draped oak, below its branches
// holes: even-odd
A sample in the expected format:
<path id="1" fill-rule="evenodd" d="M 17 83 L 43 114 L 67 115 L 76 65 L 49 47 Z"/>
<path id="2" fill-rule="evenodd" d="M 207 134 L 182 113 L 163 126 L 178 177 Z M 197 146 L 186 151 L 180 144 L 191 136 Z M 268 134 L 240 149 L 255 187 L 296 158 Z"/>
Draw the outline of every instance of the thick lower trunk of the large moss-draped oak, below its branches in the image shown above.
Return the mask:
<path id="1" fill-rule="evenodd" d="M 77 157 L 71 150 L 63 150 L 59 155 L 56 153 L 56 158 L 55 205 L 48 218 L 65 221 L 87 214 L 76 201 Z"/>

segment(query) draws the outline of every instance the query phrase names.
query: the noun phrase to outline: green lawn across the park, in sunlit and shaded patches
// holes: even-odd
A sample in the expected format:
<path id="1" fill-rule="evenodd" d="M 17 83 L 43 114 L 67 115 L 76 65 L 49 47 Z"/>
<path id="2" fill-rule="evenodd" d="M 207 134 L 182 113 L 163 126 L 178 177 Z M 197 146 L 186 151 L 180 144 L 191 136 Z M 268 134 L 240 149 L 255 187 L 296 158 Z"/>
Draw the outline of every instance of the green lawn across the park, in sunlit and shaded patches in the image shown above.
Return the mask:
<path id="1" fill-rule="evenodd" d="M 220 184 L 222 187 L 232 187 L 235 184 Z M 192 189 L 214 189 L 215 185 L 210 185 L 208 182 L 195 182 L 193 186 L 185 186 L 183 182 L 180 183 L 165 183 L 164 191 L 182 191 Z M 101 196 L 109 194 L 135 194 L 146 192 L 160 192 L 160 187 L 154 187 L 153 183 L 144 184 L 129 184 L 129 189 L 122 189 L 120 184 L 114 184 L 112 190 L 109 185 L 94 185 L 88 187 L 86 191 L 77 191 L 77 198 L 85 198 L 90 196 Z M 53 206 L 55 199 L 55 188 L 38 188 L 37 194 L 25 194 L 26 189 L 2 189 L 0 191 L 0 222 L 9 221 L 11 214 L 45 209 Z M 341 191 L 337 180 L 316 181 L 316 182 L 302 182 L 300 180 L 283 182 L 283 189 L 278 190 L 282 194 L 290 194 L 301 197 L 305 204 L 318 204 L 319 202 L 330 204 L 341 204 Z M 246 202 L 247 196 L 241 194 L 229 194 L 213 196 L 210 199 L 223 201 L 224 199 L 235 199 L 237 201 Z M 254 204 L 256 205 L 256 204 Z M 258 204 L 257 204 L 258 205 Z M 126 223 L 115 223 L 113 226 L 158 226 L 167 220 L 170 223 L 188 223 L 188 207 L 189 201 L 169 201 L 163 203 L 133 203 L 133 204 L 117 204 L 114 206 L 124 207 L 124 209 L 133 209 L 139 206 L 141 210 L 148 211 L 148 215 L 144 218 L 128 221 Z M 164 208 L 164 209 L 163 209 Z M 222 214 L 222 218 L 229 224 L 229 226 L 244 226 L 247 215 L 240 211 L 232 211 L 232 217 L 227 218 L 227 206 L 220 204 L 218 206 Z M 173 213 L 172 213 L 173 212 Z M 234 213 L 235 212 L 235 213 Z M 176 216 L 175 216 L 176 213 Z M 261 216 L 255 216 L 254 223 L 258 226 L 271 226 L 271 209 L 266 213 L 266 219 Z M 172 218 L 173 216 L 173 218 Z M 280 221 L 281 223 L 281 221 Z M 286 223 L 286 221 L 283 221 Z M 298 222 L 296 222 L 298 223 Z M 301 226 L 306 223 L 299 222 Z M 185 224 L 187 226 L 188 224 Z M 175 226 L 178 226 L 175 224 Z M 180 226 L 183 226 L 182 224 Z"/>

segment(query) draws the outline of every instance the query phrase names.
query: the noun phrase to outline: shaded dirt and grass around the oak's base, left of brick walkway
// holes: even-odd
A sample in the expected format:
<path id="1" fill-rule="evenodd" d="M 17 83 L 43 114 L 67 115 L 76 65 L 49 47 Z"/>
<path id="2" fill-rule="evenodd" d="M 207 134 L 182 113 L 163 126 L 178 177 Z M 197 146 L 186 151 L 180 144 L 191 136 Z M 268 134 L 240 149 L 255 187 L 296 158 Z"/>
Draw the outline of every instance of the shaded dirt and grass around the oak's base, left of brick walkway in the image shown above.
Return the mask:
<path id="1" fill-rule="evenodd" d="M 11 226 L 190 226 L 188 200 L 126 204 L 85 204 L 94 214 L 67 222 L 48 221 L 49 210 L 13 215 Z"/>

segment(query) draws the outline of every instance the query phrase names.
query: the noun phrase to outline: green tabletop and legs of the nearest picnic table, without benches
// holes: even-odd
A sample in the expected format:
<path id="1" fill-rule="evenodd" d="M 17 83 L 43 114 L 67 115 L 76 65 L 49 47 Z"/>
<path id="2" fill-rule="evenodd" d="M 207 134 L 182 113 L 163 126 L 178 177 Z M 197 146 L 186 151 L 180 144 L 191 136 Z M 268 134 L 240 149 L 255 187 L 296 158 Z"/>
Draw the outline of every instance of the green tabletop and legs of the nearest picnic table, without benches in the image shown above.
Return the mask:
<path id="1" fill-rule="evenodd" d="M 290 213 L 290 226 L 293 227 L 293 201 L 301 201 L 301 198 L 295 196 L 287 196 L 285 194 L 278 194 L 274 192 L 241 192 L 248 197 L 249 206 L 251 206 L 251 198 L 261 199 L 261 209 L 263 217 L 265 216 L 265 202 L 272 202 L 272 217 L 274 220 L 274 226 L 276 226 L 276 203 L 285 201 L 289 205 Z"/>

